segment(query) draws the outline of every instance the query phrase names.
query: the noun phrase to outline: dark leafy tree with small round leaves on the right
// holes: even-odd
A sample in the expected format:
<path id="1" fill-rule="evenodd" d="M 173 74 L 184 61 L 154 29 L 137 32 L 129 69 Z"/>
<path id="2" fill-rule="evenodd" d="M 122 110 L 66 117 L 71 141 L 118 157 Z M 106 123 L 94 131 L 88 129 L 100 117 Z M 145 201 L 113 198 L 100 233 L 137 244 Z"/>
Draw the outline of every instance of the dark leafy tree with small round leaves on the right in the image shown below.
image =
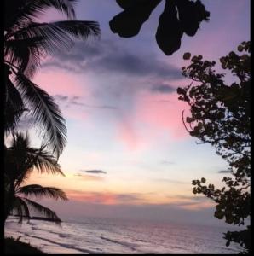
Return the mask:
<path id="1" fill-rule="evenodd" d="M 232 51 L 220 59 L 231 79 L 236 78 L 234 83 L 227 85 L 223 81 L 225 74 L 214 69 L 216 62 L 202 61 L 199 55 L 182 68 L 183 75 L 199 85 L 190 84 L 177 92 L 181 95 L 179 99 L 190 107 L 191 116 L 182 117 L 189 134 L 216 147 L 216 153 L 228 161 L 228 172 L 233 176 L 223 177 L 222 189 L 204 185 L 205 178 L 193 180 L 193 193 L 204 194 L 216 202 L 216 218 L 225 219 L 227 224 L 243 225 L 251 214 L 250 42 L 243 42 L 238 50 L 241 55 Z M 190 58 L 190 54 L 184 58 Z M 228 231 L 225 238 L 227 246 L 235 241 L 245 247 L 244 253 L 250 253 L 250 226 Z"/>

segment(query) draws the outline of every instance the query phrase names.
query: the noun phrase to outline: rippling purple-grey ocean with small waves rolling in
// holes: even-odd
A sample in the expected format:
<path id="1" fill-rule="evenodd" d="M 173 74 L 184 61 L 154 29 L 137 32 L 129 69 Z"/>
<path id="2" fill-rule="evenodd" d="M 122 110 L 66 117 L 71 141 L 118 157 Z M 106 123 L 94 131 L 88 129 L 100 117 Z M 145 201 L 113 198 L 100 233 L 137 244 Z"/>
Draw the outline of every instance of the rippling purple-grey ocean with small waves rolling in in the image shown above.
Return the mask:
<path id="1" fill-rule="evenodd" d="M 237 254 L 237 244 L 225 246 L 227 228 L 146 221 L 85 218 L 61 226 L 42 220 L 8 218 L 5 236 L 19 237 L 45 253 L 211 253 Z"/>

